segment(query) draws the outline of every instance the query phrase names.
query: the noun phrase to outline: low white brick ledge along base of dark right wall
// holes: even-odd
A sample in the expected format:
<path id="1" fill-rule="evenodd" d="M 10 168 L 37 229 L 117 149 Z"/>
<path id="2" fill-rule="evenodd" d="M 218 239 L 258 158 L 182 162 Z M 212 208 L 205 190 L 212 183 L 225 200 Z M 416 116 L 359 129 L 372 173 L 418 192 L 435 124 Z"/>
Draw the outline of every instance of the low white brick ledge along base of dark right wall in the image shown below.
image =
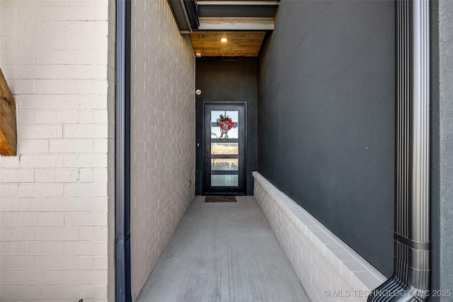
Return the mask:
<path id="1" fill-rule="evenodd" d="M 255 198 L 311 301 L 367 301 L 386 280 L 258 172 Z"/>

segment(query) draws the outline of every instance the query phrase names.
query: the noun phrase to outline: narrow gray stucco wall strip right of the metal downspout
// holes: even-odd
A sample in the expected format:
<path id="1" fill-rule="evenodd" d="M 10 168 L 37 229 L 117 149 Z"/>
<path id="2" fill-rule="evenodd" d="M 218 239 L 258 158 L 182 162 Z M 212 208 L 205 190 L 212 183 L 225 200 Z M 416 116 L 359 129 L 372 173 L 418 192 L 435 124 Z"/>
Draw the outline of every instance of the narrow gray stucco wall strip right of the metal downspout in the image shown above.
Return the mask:
<path id="1" fill-rule="evenodd" d="M 453 291 L 452 20 L 453 1 L 432 1 L 431 289 L 434 291 Z M 430 301 L 452 301 L 452 296 L 430 297 Z"/>

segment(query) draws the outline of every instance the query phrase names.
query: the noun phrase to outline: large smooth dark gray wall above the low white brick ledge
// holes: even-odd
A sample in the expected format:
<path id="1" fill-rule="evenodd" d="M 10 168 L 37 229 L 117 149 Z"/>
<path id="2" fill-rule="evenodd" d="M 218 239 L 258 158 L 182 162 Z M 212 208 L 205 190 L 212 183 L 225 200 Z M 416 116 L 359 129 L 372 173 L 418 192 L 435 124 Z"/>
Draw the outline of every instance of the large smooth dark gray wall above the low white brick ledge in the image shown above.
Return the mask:
<path id="1" fill-rule="evenodd" d="M 392 1 L 282 0 L 260 52 L 258 170 L 393 272 Z"/>

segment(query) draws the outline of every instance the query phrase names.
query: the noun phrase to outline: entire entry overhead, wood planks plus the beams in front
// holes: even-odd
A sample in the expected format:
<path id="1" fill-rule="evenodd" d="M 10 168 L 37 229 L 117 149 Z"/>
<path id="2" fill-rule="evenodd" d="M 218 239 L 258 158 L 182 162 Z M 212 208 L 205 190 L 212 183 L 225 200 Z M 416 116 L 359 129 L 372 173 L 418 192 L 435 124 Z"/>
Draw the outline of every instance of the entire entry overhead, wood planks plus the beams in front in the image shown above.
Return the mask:
<path id="1" fill-rule="evenodd" d="M 189 33 L 197 57 L 257 57 L 265 33 L 274 29 L 280 5 L 280 0 L 167 1 L 181 33 Z M 228 40 L 221 42 L 222 37 Z"/>

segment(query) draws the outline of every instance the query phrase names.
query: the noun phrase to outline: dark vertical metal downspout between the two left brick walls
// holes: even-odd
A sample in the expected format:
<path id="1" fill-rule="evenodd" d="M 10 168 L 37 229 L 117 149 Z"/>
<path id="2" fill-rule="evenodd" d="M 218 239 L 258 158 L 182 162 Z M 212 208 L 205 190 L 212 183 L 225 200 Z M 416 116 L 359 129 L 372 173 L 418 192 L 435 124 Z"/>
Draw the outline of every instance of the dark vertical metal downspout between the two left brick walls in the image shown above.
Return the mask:
<path id="1" fill-rule="evenodd" d="M 129 302 L 130 284 L 130 0 L 117 0 L 115 148 L 115 301 Z"/>

